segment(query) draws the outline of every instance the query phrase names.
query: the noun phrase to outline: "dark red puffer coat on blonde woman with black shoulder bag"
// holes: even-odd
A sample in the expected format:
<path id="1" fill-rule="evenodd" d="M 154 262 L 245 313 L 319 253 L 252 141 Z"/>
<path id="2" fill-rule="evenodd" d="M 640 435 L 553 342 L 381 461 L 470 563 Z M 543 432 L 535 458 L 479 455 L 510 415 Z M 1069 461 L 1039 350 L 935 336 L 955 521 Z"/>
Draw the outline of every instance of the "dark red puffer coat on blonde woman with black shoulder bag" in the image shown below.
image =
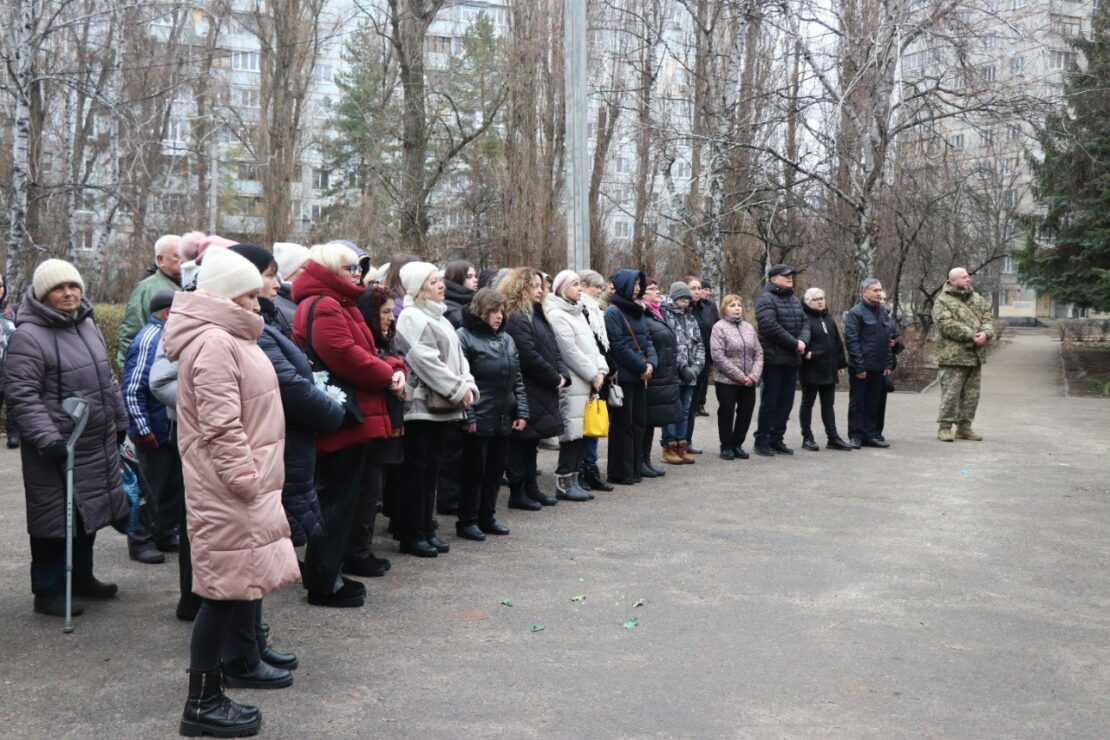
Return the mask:
<path id="1" fill-rule="evenodd" d="M 296 302 L 293 339 L 299 345 L 305 345 L 309 308 L 317 295 L 323 300 L 313 314 L 312 348 L 330 373 L 355 387 L 363 417 L 359 426 L 345 426 L 334 434 L 316 437 L 316 450 L 326 454 L 390 436 L 385 394 L 390 392 L 393 374 L 404 372 L 405 363 L 398 357 L 379 357 L 374 336 L 355 305 L 362 288 L 312 260 L 293 283 Z"/>

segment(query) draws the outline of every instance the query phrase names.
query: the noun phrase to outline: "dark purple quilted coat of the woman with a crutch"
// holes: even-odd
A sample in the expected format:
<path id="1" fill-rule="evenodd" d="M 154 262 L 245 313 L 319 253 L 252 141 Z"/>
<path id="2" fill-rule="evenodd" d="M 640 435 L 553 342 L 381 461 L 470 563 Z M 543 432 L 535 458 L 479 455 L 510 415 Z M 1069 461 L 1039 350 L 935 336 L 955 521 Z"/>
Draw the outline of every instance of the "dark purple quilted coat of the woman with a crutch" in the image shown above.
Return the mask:
<path id="1" fill-rule="evenodd" d="M 4 374 L 8 414 L 23 437 L 28 534 L 65 536 L 63 466 L 39 450 L 69 439 L 73 422 L 62 401 L 70 396 L 89 402 L 89 423 L 73 455 L 73 505 L 84 530 L 94 533 L 127 517 L 117 437 L 128 428 L 128 413 L 89 302 L 82 300 L 71 316 L 40 303 L 28 287 L 8 342 Z"/>

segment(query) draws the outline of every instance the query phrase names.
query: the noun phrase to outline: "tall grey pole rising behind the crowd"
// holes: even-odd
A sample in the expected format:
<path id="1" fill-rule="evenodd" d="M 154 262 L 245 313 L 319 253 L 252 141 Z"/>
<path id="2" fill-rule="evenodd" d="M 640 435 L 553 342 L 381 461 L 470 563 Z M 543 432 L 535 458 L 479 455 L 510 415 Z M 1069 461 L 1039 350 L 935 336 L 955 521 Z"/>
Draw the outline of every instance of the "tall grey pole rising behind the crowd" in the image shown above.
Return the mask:
<path id="1" fill-rule="evenodd" d="M 586 0 L 565 0 L 563 7 L 564 71 L 566 78 L 566 263 L 581 272 L 589 266 L 589 169 L 586 120 Z"/>

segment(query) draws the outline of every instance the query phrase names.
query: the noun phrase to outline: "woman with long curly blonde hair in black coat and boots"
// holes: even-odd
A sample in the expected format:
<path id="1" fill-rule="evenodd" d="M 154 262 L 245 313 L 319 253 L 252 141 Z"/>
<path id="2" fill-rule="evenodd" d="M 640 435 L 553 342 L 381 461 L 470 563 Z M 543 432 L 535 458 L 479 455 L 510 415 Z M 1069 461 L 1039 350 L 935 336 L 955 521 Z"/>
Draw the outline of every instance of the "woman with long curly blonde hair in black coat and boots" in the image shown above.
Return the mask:
<path id="1" fill-rule="evenodd" d="M 505 296 L 505 331 L 516 342 L 528 396 L 528 425 L 514 430 L 508 442 L 508 507 L 535 511 L 558 503 L 539 489 L 536 455 L 541 439 L 563 434 L 559 391 L 569 384 L 569 372 L 544 314 L 543 276 L 532 267 L 517 267 L 497 291 Z"/>

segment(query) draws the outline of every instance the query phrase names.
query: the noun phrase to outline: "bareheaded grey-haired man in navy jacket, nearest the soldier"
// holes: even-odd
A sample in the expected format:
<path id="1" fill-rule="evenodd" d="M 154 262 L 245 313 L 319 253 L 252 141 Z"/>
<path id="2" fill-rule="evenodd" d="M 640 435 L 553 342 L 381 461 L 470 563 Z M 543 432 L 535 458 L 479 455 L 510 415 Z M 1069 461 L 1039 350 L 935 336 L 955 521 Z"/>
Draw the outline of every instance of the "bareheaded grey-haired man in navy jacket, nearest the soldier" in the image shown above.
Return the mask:
<path id="1" fill-rule="evenodd" d="M 866 277 L 859 294 L 859 303 L 844 318 L 848 372 L 851 373 L 848 436 L 852 447 L 889 447 L 876 430 L 879 404 L 895 359 L 890 331 L 882 320 L 882 284 L 877 277 Z"/>

